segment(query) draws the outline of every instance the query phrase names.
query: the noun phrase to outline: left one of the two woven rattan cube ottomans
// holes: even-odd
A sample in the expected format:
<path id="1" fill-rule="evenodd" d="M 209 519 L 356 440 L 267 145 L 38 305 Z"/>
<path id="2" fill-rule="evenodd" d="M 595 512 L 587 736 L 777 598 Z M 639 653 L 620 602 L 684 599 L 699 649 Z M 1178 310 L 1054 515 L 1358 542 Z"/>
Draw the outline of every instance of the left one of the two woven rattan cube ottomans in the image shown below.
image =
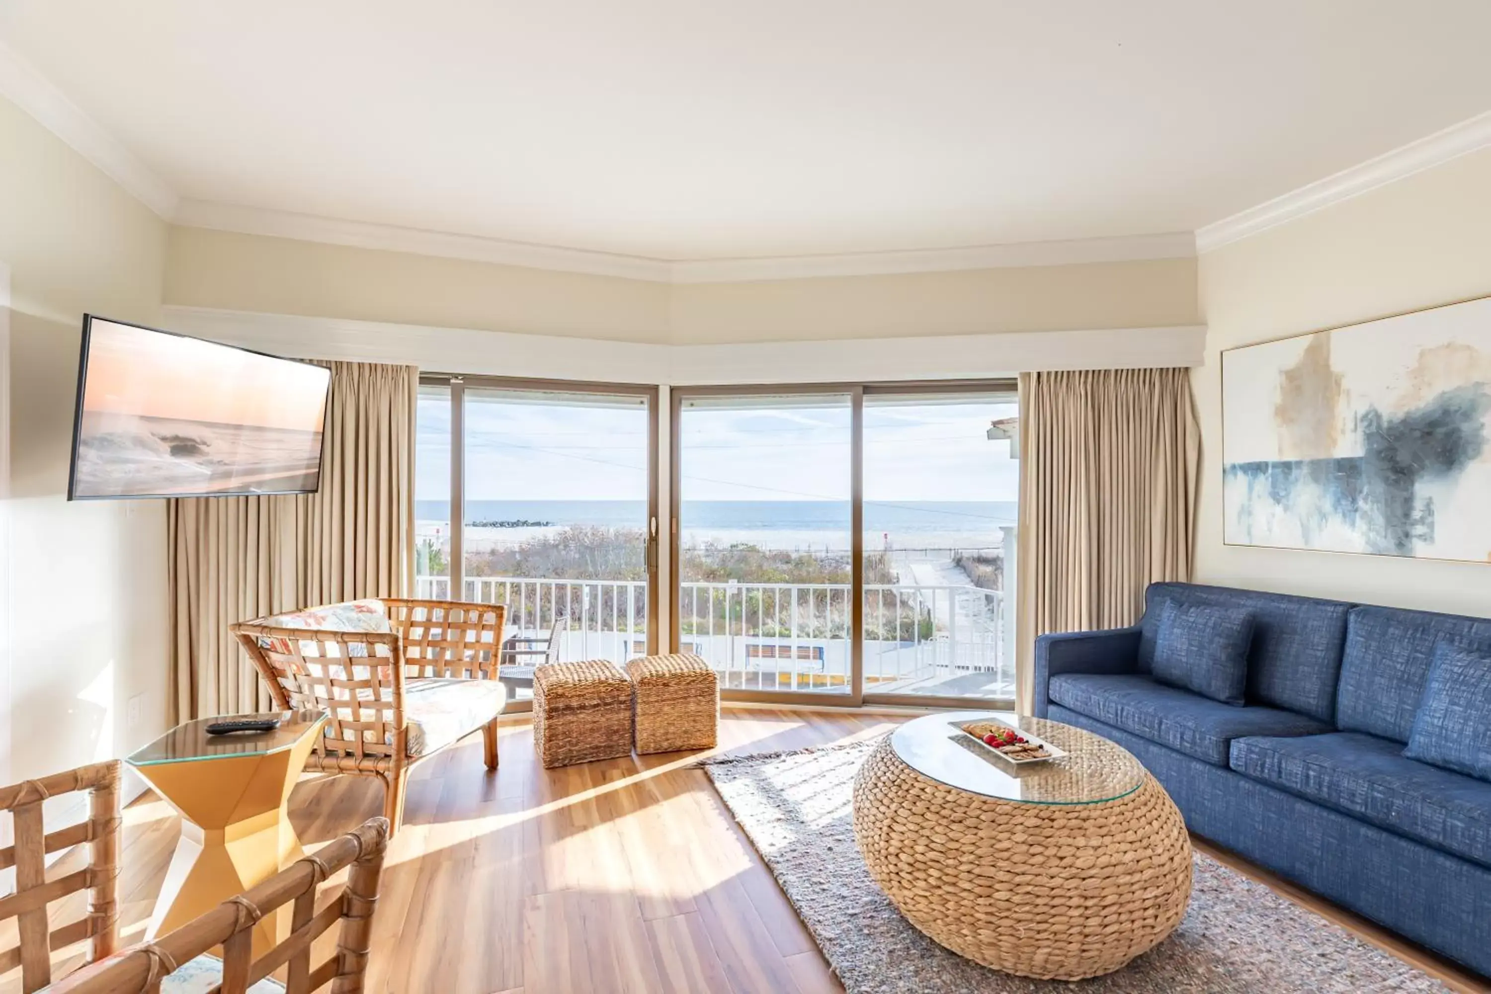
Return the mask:
<path id="1" fill-rule="evenodd" d="M 629 756 L 632 681 L 605 659 L 535 668 L 534 750 L 546 769 Z"/>

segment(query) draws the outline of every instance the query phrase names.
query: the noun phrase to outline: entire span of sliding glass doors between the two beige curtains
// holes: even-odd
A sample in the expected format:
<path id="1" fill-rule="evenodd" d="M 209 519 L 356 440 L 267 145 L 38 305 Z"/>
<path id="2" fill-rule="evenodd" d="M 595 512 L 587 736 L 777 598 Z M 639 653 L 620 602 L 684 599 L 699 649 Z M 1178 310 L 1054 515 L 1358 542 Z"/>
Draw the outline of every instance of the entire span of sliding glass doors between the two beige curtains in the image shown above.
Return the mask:
<path id="1" fill-rule="evenodd" d="M 511 665 L 672 648 L 728 699 L 1014 703 L 1012 383 L 671 395 L 668 630 L 647 386 L 426 376 L 416 592 L 505 604 Z"/>

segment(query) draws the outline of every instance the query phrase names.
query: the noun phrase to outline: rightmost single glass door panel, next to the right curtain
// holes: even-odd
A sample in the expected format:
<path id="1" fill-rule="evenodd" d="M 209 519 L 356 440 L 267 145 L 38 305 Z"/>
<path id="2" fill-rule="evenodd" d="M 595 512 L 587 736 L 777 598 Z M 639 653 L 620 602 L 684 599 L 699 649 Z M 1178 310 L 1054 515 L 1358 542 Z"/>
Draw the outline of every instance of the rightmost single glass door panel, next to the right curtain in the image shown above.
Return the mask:
<path id="1" fill-rule="evenodd" d="M 1011 390 L 865 393 L 865 696 L 1015 694 Z"/>

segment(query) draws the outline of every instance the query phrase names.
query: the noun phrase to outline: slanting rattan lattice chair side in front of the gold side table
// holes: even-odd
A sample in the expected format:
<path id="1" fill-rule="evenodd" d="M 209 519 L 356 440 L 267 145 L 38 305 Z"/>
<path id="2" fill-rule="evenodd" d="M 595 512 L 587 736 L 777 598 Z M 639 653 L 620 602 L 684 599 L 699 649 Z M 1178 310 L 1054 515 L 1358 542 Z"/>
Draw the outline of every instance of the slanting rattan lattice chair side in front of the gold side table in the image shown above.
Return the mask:
<path id="1" fill-rule="evenodd" d="M 158 994 L 180 964 L 222 946 L 221 994 L 249 987 L 286 967 L 286 994 L 310 994 L 331 984 L 331 994 L 361 994 L 368 966 L 373 912 L 388 848 L 388 823 L 371 818 L 356 832 L 327 843 L 292 866 L 237 894 L 180 928 L 86 966 L 54 988 L 55 994 Z M 316 888 L 350 866 L 346 887 L 316 909 Z M 253 960 L 253 925 L 294 902 L 291 934 Z M 341 922 L 337 949 L 312 967 L 312 942 Z M 166 990 L 170 990 L 167 981 Z"/>

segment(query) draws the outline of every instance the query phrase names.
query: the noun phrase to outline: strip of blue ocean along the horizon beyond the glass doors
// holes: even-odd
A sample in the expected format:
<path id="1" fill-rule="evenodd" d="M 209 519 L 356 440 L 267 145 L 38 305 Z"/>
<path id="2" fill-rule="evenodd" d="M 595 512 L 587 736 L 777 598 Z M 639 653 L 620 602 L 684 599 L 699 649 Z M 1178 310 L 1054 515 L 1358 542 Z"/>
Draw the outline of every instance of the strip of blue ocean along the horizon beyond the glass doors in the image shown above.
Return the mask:
<path id="1" fill-rule="evenodd" d="M 547 522 L 549 526 L 471 526 L 473 542 L 519 544 L 561 528 L 644 528 L 643 501 L 468 501 L 467 522 Z M 446 501 L 416 501 L 419 535 L 449 528 Z M 1002 544 L 1002 526 L 1015 525 L 1014 501 L 866 501 L 866 547 L 992 548 Z M 848 501 L 684 501 L 680 514 L 684 544 L 750 542 L 762 548 L 848 548 Z"/>

